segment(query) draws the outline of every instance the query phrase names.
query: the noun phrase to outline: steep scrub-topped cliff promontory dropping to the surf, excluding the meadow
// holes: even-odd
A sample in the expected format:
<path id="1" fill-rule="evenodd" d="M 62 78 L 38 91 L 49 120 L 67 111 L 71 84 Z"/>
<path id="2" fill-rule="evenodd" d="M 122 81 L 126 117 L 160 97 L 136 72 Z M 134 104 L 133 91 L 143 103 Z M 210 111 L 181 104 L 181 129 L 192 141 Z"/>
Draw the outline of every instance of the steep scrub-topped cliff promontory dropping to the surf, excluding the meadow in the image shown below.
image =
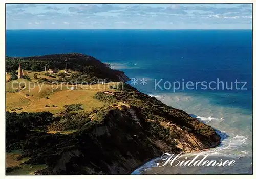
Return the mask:
<path id="1" fill-rule="evenodd" d="M 132 87 L 101 95 L 116 101 L 91 112 L 90 122 L 65 136 L 63 141 L 73 142 L 58 146 L 61 152 L 50 154 L 55 158 L 37 174 L 129 174 L 164 152 L 199 151 L 220 142 L 210 126 Z"/>

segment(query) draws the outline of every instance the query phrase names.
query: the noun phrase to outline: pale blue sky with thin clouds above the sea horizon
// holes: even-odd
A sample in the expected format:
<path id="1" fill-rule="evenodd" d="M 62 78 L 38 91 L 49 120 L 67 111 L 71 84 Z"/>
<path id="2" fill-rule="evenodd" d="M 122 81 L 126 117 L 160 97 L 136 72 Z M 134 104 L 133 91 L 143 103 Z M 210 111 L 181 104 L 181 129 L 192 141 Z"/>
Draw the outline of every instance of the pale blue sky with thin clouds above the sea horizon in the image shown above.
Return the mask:
<path id="1" fill-rule="evenodd" d="M 252 29 L 251 4 L 7 4 L 7 29 Z"/>

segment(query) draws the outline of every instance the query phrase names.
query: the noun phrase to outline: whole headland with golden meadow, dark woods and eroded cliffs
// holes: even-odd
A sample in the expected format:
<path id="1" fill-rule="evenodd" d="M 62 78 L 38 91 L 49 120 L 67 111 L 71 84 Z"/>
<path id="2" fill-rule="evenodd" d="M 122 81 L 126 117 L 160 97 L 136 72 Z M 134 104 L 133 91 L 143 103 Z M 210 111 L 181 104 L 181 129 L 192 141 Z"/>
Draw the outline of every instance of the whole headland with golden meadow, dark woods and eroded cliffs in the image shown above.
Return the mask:
<path id="1" fill-rule="evenodd" d="M 64 74 L 66 58 L 72 72 Z M 14 71 L 19 62 L 23 79 Z M 45 74 L 46 62 L 58 73 Z M 7 57 L 7 71 L 7 175 L 129 174 L 164 152 L 220 142 L 210 126 L 120 82 L 129 78 L 91 56 Z M 107 83 L 65 84 L 102 78 Z"/>

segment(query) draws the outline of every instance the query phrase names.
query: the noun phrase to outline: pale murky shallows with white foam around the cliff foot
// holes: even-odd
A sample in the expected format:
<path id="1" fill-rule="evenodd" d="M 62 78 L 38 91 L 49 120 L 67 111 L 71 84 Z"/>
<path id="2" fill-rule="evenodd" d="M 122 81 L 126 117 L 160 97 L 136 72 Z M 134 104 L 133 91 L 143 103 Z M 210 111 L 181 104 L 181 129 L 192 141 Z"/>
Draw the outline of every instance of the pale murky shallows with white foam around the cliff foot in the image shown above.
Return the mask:
<path id="1" fill-rule="evenodd" d="M 205 151 L 185 153 L 183 154 L 184 156 L 208 155 L 212 156 L 213 158 L 230 157 L 240 160 L 246 156 L 250 157 L 251 151 L 246 150 L 246 146 L 250 145 L 250 140 L 248 139 L 249 137 L 246 137 L 247 133 L 242 129 L 234 128 L 234 130 L 232 130 L 230 127 L 228 127 L 228 123 L 235 121 L 233 120 L 234 116 L 237 118 L 245 118 L 247 116 L 240 115 L 233 108 L 231 109 L 223 106 L 218 107 L 211 105 L 207 98 L 199 98 L 197 96 L 190 96 L 184 93 L 173 95 L 166 94 L 166 96 L 162 94 L 150 94 L 150 96 L 156 97 L 158 100 L 161 100 L 163 103 L 169 106 L 175 106 L 176 108 L 192 113 L 190 115 L 191 117 L 198 118 L 200 121 L 221 130 L 219 131 L 215 129 L 216 133 L 221 137 L 219 146 Z M 193 113 L 198 113 L 201 115 L 193 115 Z M 159 160 L 160 158 L 157 158 L 150 161 L 150 163 L 146 163 L 137 169 L 137 173 L 139 174 L 140 171 L 141 174 L 146 168 L 156 167 L 156 163 Z"/>

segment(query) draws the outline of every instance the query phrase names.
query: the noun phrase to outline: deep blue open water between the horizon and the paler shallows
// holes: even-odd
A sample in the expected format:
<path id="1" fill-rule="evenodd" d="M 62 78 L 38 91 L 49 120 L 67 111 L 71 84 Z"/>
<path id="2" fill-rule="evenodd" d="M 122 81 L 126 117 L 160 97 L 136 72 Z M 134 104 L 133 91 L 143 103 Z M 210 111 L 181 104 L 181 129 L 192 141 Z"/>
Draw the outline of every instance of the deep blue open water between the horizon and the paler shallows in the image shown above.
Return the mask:
<path id="1" fill-rule="evenodd" d="M 178 81 L 185 88 L 175 92 L 193 92 L 213 97 L 230 94 L 226 105 L 252 110 L 252 31 L 251 30 L 7 30 L 7 56 L 33 56 L 56 53 L 84 53 L 103 62 L 125 64 L 132 77 L 151 78 L 147 85 L 137 85 L 144 92 L 155 90 L 154 79 Z M 210 83 L 217 79 L 219 88 L 186 88 L 191 81 Z M 246 82 L 237 90 L 235 81 Z M 226 83 L 228 85 L 226 85 Z M 226 86 L 232 89 L 226 89 Z M 238 83 L 241 89 L 244 83 Z M 173 87 L 158 92 L 174 92 Z M 214 87 L 216 87 L 215 90 Z M 224 89 L 223 89 L 224 88 Z M 167 89 L 167 90 L 166 90 Z M 215 98 L 218 98 L 216 96 Z"/>

